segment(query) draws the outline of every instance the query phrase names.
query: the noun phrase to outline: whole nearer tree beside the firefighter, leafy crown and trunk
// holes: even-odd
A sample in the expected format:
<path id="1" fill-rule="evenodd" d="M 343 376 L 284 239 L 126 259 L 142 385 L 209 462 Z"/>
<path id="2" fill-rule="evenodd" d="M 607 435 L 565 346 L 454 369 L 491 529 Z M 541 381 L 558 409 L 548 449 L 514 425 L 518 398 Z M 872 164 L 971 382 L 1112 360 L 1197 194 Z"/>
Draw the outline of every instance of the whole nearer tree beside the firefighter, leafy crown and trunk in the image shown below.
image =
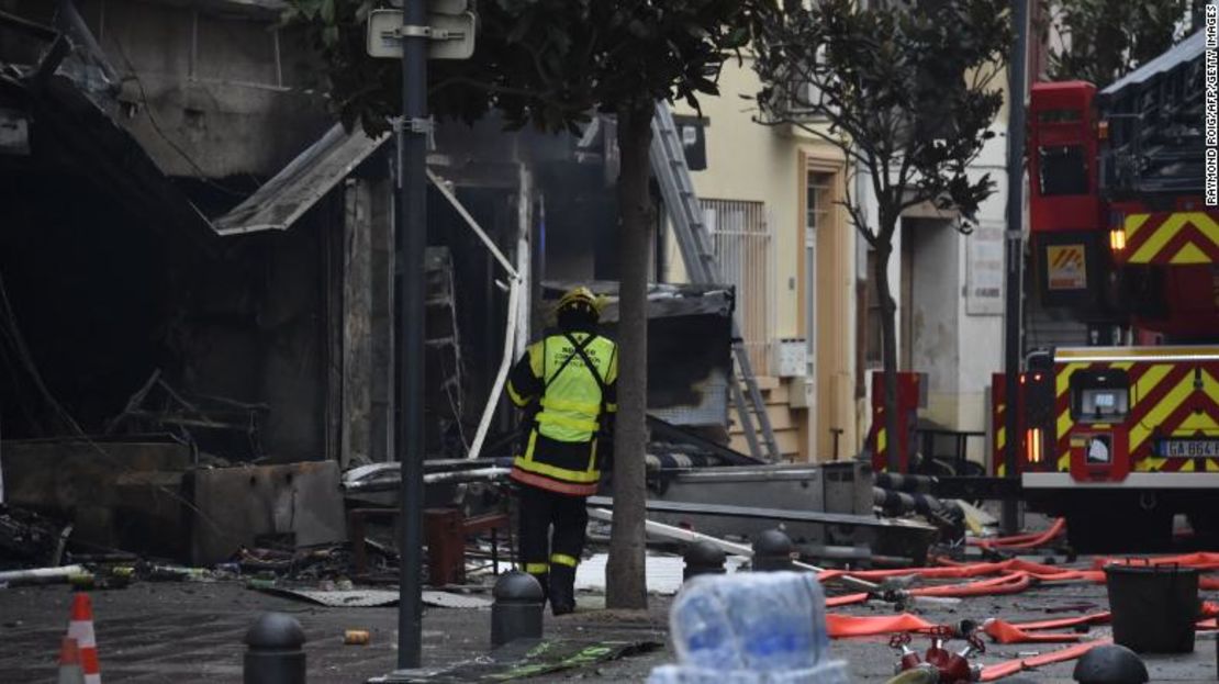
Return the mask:
<path id="1" fill-rule="evenodd" d="M 417 0 L 407 0 L 417 1 Z M 379 132 L 399 112 L 400 69 L 364 55 L 364 20 L 384 2 L 289 0 L 285 20 L 307 27 L 349 127 Z M 651 262 L 647 150 L 657 100 L 697 107 L 717 94 L 725 59 L 744 46 L 761 0 L 483 0 L 473 59 L 433 62 L 430 107 L 472 122 L 497 111 L 511 127 L 577 132 L 592 111 L 617 116 L 622 349 L 616 428 L 614 519 L 607 604 L 640 608 L 644 578 L 646 291 Z"/>

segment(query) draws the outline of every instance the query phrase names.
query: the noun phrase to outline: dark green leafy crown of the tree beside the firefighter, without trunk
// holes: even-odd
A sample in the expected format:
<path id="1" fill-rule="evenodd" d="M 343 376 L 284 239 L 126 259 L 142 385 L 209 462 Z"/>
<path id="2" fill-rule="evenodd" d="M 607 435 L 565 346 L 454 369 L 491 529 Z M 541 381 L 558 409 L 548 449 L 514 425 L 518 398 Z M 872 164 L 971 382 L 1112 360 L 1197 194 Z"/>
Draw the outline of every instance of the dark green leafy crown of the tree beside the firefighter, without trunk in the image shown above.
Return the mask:
<path id="1" fill-rule="evenodd" d="M 400 104 L 397 63 L 364 52 L 364 21 L 384 0 L 289 0 L 327 65 L 347 126 L 383 130 Z M 430 65 L 435 116 L 472 122 L 499 110 L 512 126 L 575 130 L 590 111 L 717 94 L 719 66 L 745 45 L 755 7 L 734 0 L 484 0 L 467 61 Z"/>

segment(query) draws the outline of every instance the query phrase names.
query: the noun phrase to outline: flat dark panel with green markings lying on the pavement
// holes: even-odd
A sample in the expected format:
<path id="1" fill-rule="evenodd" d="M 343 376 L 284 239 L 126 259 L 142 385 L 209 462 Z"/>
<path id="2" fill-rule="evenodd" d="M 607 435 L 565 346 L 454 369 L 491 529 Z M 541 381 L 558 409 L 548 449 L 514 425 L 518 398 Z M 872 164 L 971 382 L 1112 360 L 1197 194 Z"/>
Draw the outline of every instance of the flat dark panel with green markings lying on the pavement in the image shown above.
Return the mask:
<path id="1" fill-rule="evenodd" d="M 568 669 L 591 668 L 603 662 L 663 647 L 650 640 L 519 639 L 453 666 L 394 673 L 393 682 L 458 684 L 525 679 Z M 368 682 L 388 682 L 374 677 Z"/>

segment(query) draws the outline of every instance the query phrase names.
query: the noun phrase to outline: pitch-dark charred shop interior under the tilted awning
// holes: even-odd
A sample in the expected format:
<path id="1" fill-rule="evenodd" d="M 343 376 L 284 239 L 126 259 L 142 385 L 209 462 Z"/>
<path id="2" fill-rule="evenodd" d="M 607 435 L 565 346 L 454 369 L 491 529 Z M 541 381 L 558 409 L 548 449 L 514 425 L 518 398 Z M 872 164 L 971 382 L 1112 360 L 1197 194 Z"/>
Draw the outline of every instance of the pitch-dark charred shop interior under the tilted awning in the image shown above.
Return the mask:
<path id="1" fill-rule="evenodd" d="M 327 227 L 341 226 L 341 205 L 323 201 L 296 229 L 226 243 L 213 258 L 87 178 L 7 168 L 0 182 L 0 277 L 12 310 L 0 310 L 5 439 L 73 433 L 35 369 L 98 434 L 160 368 L 185 397 L 266 405 L 261 450 L 272 460 L 327 454 Z"/>

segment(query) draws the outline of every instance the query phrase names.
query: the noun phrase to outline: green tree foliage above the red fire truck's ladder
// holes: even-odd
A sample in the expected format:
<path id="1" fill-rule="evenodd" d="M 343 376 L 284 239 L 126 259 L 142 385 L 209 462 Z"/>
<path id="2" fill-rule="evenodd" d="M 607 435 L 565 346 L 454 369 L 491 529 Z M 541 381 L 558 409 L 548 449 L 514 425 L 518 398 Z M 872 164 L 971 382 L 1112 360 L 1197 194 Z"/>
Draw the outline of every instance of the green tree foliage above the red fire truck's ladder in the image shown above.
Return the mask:
<path id="1" fill-rule="evenodd" d="M 1113 83 L 1197 29 L 1204 0 L 1041 0 L 1050 80 Z"/>

